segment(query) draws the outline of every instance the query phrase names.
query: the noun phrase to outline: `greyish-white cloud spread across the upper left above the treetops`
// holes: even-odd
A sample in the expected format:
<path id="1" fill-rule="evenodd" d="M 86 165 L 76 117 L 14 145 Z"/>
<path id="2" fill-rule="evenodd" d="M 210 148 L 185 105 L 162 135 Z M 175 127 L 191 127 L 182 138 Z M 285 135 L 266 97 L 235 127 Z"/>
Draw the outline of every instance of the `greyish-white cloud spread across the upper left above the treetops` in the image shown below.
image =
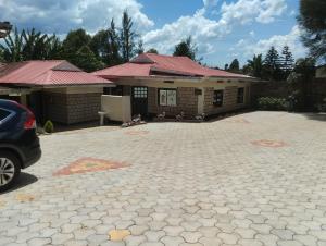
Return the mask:
<path id="1" fill-rule="evenodd" d="M 47 33 L 66 34 L 78 27 L 95 33 L 108 26 L 112 17 L 120 25 L 123 11 L 128 10 L 139 29 L 153 26 L 141 9 L 137 0 L 0 0 L 0 20 Z"/>

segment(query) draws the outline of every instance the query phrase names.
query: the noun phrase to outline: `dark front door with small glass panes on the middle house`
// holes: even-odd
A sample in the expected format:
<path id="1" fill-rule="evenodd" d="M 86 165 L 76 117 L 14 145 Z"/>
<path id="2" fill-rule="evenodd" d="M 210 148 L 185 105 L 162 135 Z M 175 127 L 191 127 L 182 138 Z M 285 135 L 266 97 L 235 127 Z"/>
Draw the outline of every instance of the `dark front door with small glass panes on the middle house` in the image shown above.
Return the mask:
<path id="1" fill-rule="evenodd" d="M 131 87 L 133 115 L 148 116 L 148 88 L 143 86 Z"/>

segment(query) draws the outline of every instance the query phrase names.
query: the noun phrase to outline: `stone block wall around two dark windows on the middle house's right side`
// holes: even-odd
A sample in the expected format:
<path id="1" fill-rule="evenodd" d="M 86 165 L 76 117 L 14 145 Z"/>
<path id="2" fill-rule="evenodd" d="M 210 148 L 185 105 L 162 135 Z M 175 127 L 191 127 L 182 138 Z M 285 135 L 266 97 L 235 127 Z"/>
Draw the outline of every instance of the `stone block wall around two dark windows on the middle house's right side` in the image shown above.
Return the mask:
<path id="1" fill-rule="evenodd" d="M 213 104 L 214 101 L 214 88 L 204 89 L 204 113 L 208 115 L 217 114 L 226 111 L 233 111 L 241 109 L 248 106 L 248 87 L 244 87 L 244 103 L 237 103 L 238 86 L 225 87 L 223 94 L 223 106 L 216 107 Z"/>

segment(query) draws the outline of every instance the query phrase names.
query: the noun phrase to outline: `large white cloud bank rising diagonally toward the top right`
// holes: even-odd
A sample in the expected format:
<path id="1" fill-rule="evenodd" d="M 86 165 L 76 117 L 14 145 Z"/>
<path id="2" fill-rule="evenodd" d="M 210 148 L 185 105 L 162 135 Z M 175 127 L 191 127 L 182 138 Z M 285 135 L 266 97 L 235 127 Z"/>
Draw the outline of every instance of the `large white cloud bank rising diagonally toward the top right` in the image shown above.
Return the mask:
<path id="1" fill-rule="evenodd" d="M 199 47 L 199 53 L 213 52 L 214 44 L 226 37 L 236 26 L 251 22 L 271 23 L 286 10 L 286 0 L 238 0 L 223 2 L 220 20 L 209 19 L 206 10 L 216 7 L 216 0 L 203 0 L 203 8 L 193 15 L 180 16 L 162 28 L 148 32 L 143 36 L 146 48 L 155 47 L 162 53 L 168 53 L 181 39 L 191 35 Z M 212 8 L 211 8 L 212 9 Z M 210 11 L 211 11 L 210 9 Z M 250 34 L 251 36 L 254 33 Z"/>

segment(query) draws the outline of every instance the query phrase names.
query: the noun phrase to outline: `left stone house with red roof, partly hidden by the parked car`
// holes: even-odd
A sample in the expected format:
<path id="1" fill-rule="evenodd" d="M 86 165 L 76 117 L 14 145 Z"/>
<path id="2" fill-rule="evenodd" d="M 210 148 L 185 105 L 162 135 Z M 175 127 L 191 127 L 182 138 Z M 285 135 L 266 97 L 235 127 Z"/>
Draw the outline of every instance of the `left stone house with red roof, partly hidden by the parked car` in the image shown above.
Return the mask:
<path id="1" fill-rule="evenodd" d="M 74 124 L 98 120 L 101 95 L 111 81 L 64 60 L 24 61 L 0 66 L 0 97 L 29 107 L 37 121 Z"/>

